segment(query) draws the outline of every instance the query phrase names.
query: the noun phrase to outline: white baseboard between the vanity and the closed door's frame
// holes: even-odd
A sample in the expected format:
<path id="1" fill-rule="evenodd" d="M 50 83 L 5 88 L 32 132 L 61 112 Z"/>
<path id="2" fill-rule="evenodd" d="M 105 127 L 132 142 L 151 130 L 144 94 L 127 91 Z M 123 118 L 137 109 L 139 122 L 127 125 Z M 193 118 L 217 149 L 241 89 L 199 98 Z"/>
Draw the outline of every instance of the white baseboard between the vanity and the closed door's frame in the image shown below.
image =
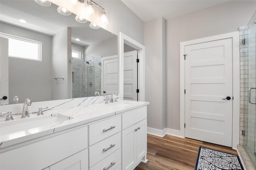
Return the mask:
<path id="1" fill-rule="evenodd" d="M 164 128 L 163 130 L 159 130 L 156 128 L 148 127 L 147 130 L 148 130 L 148 134 L 153 134 L 160 137 L 163 137 L 166 134 L 170 134 L 172 136 L 178 136 L 180 138 L 184 138 L 184 134 L 182 134 L 180 130 L 175 130 L 171 128 Z"/>

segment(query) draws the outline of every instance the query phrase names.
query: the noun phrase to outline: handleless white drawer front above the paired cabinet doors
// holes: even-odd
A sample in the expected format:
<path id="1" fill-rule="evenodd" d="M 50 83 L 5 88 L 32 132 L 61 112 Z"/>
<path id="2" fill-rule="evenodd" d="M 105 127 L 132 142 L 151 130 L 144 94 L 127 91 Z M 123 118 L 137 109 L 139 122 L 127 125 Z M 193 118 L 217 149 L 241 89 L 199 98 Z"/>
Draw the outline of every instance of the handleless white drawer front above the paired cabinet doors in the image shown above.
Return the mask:
<path id="1" fill-rule="evenodd" d="M 147 107 L 127 111 L 122 115 L 122 130 L 147 118 Z"/>

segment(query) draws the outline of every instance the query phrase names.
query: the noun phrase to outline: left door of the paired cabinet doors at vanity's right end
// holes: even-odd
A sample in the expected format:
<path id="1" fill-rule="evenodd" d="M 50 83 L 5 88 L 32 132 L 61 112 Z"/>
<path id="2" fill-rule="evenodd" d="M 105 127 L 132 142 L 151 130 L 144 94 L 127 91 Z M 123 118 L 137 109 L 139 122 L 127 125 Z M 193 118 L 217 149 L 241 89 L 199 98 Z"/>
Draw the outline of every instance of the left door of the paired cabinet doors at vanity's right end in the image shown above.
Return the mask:
<path id="1" fill-rule="evenodd" d="M 122 131 L 122 170 L 130 170 L 136 165 L 136 131 L 137 125 Z"/>

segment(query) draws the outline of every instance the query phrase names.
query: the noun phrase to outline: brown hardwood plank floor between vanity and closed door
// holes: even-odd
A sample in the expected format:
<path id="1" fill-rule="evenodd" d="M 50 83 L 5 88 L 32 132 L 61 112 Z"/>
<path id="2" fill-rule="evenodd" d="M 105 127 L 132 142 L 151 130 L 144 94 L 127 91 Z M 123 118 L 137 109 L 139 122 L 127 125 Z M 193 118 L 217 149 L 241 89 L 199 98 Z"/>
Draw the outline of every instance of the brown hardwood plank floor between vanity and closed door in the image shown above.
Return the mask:
<path id="1" fill-rule="evenodd" d="M 190 138 L 164 137 L 148 134 L 148 162 L 141 162 L 134 170 L 194 170 L 199 147 L 236 154 L 236 150 Z"/>

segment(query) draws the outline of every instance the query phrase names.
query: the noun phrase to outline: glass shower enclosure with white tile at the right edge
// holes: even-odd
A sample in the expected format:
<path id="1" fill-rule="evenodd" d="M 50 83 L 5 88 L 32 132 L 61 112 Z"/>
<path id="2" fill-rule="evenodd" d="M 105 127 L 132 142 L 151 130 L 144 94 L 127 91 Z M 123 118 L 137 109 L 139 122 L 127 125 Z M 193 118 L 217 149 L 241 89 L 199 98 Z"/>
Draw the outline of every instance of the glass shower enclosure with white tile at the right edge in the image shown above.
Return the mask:
<path id="1" fill-rule="evenodd" d="M 240 144 L 256 167 L 256 12 L 240 27 Z"/>

